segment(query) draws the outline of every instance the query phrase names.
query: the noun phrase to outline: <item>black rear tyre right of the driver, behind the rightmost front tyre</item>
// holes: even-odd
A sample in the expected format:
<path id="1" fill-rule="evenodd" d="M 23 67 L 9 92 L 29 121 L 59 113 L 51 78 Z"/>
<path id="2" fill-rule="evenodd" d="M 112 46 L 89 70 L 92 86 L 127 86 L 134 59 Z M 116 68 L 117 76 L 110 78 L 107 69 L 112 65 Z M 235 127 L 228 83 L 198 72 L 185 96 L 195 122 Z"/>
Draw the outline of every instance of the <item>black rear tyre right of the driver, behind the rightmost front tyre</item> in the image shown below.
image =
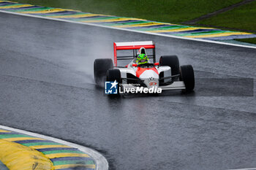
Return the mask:
<path id="1" fill-rule="evenodd" d="M 171 75 L 179 74 L 179 61 L 176 55 L 163 55 L 159 59 L 160 66 L 170 66 Z M 174 78 L 174 81 L 178 81 L 178 77 Z"/>

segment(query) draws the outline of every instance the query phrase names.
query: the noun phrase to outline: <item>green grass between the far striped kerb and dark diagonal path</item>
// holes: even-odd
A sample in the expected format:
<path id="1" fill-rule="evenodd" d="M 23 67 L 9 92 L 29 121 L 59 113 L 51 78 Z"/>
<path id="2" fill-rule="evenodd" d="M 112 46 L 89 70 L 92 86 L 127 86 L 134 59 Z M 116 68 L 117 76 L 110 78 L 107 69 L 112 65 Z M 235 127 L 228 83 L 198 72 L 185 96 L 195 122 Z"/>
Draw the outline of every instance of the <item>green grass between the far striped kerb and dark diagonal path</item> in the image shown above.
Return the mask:
<path id="1" fill-rule="evenodd" d="M 15 0 L 44 7 L 178 23 L 200 17 L 241 0 Z"/>

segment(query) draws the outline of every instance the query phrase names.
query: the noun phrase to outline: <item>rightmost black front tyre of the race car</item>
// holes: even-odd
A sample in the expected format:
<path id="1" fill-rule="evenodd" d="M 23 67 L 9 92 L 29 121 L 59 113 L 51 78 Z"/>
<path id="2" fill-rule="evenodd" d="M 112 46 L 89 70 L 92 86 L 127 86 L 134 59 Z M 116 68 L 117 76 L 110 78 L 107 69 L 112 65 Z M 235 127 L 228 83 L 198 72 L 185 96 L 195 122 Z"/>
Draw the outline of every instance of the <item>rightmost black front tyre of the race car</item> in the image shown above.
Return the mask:
<path id="1" fill-rule="evenodd" d="M 184 81 L 186 93 L 192 92 L 195 88 L 195 74 L 191 65 L 181 66 L 181 81 Z"/>

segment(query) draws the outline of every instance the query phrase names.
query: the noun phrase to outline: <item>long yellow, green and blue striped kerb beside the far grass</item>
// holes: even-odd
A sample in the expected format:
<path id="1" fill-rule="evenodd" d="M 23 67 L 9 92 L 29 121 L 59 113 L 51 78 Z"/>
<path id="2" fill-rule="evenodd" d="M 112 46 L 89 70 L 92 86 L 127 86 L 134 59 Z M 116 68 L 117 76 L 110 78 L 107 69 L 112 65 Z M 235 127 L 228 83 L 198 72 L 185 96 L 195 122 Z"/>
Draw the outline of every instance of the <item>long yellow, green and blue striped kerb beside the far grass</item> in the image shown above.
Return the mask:
<path id="1" fill-rule="evenodd" d="M 72 3 L 72 2 L 71 2 Z M 161 23 L 139 18 L 124 18 L 110 15 L 98 15 L 80 12 L 72 9 L 41 7 L 31 4 L 19 4 L 12 1 L 0 1 L 0 10 L 17 12 L 27 15 L 37 15 L 46 18 L 72 20 L 81 23 L 93 23 L 101 26 L 126 28 L 155 34 L 184 36 L 193 39 L 208 39 L 225 41 L 230 39 L 255 38 L 255 34 L 241 31 L 224 31 L 217 28 L 203 28 L 195 26 L 181 26 L 172 23 Z"/>

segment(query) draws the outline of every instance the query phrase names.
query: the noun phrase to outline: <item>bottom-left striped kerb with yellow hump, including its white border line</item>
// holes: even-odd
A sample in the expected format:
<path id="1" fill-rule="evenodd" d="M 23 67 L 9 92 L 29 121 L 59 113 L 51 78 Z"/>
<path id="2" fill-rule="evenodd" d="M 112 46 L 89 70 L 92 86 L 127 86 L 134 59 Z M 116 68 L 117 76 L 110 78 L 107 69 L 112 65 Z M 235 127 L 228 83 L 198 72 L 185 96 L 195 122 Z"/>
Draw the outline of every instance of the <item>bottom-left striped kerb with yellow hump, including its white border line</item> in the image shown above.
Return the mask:
<path id="1" fill-rule="evenodd" d="M 4 150 L 6 148 L 8 150 Z M 16 152 L 15 149 L 19 150 Z M 32 158 L 36 160 L 39 158 L 39 156 L 34 156 L 33 153 L 39 153 L 43 158 L 48 160 L 51 163 L 50 169 L 108 169 L 108 161 L 98 152 L 87 147 L 0 125 L 0 161 L 10 170 L 33 169 L 35 166 L 31 165 L 35 163 Z M 19 156 L 23 158 L 22 154 L 25 154 L 27 157 L 31 155 L 31 159 L 27 158 L 27 165 L 24 166 L 18 162 Z M 38 160 L 41 160 L 41 158 Z M 39 163 L 42 164 L 43 161 Z M 48 167 L 38 167 L 42 170 L 49 169 Z"/>

